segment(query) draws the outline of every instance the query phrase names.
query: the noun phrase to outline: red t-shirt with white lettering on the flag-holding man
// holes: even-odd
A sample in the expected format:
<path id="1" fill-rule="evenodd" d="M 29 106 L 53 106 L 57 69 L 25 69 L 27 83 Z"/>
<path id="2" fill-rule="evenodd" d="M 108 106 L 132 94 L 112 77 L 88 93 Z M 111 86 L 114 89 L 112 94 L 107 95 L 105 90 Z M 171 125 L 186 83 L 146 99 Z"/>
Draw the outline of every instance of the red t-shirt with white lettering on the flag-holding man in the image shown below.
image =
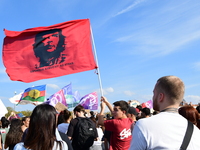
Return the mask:
<path id="1" fill-rule="evenodd" d="M 131 142 L 130 118 L 112 119 L 104 121 L 105 130 L 111 131 L 110 150 L 128 150 Z"/>

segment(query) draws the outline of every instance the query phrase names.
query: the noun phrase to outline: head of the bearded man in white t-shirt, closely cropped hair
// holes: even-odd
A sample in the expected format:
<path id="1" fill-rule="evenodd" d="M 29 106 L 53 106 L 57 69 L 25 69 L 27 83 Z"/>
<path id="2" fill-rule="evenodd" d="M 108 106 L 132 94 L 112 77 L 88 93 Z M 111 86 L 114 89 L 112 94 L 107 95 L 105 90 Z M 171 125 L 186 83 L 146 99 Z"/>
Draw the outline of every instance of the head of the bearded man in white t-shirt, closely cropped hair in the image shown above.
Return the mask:
<path id="1" fill-rule="evenodd" d="M 184 83 L 176 76 L 164 76 L 158 79 L 153 90 L 153 109 L 160 111 L 161 107 L 176 106 L 183 100 Z"/>

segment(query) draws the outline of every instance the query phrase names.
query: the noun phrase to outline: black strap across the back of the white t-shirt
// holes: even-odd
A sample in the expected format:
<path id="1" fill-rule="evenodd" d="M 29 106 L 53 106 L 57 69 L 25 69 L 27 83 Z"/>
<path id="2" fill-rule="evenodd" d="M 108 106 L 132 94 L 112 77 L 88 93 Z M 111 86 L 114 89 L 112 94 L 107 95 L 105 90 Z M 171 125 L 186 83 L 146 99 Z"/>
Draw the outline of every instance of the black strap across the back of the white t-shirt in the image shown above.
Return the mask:
<path id="1" fill-rule="evenodd" d="M 180 150 L 186 150 L 187 149 L 187 147 L 188 147 L 188 145 L 190 143 L 191 137 L 192 137 L 193 130 L 194 130 L 193 123 L 188 121 L 187 130 L 185 132 L 185 136 L 184 136 L 182 145 L 180 147 Z"/>

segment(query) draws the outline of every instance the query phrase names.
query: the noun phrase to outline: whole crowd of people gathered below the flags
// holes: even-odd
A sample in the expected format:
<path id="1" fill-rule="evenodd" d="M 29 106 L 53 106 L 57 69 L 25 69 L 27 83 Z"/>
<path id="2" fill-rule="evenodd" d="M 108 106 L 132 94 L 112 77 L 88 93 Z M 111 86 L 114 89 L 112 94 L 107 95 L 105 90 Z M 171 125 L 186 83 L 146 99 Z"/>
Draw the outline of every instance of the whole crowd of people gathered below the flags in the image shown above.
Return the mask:
<path id="1" fill-rule="evenodd" d="M 87 113 L 81 105 L 73 113 L 58 111 L 48 104 L 36 106 L 30 117 L 21 119 L 11 112 L 1 118 L 0 149 L 197 150 L 200 105 L 180 106 L 184 92 L 180 78 L 164 76 L 153 90 L 153 112 L 141 105 L 130 107 L 124 100 L 112 105 L 104 96 L 99 113 Z"/>

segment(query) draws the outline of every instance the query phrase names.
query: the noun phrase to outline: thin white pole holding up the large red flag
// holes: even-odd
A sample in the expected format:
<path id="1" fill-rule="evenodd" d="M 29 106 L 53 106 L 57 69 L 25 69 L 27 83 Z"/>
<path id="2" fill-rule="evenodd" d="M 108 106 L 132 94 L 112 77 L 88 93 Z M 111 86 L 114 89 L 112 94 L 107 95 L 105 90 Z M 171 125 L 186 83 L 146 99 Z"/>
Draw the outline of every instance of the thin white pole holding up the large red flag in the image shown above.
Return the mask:
<path id="1" fill-rule="evenodd" d="M 99 70 L 99 65 L 98 65 L 98 58 L 97 58 L 96 47 L 95 47 L 95 43 L 94 43 L 94 37 L 93 37 L 93 32 L 92 32 L 92 27 L 91 26 L 90 26 L 90 32 L 91 32 L 91 35 L 92 35 L 92 43 L 93 43 L 93 47 L 94 47 L 94 55 L 95 55 L 95 59 L 96 59 L 96 63 L 97 63 L 97 75 L 98 75 L 98 79 L 99 79 L 100 92 L 101 92 L 101 96 L 103 96 L 103 88 L 102 88 L 102 83 L 101 83 L 100 70 Z"/>

